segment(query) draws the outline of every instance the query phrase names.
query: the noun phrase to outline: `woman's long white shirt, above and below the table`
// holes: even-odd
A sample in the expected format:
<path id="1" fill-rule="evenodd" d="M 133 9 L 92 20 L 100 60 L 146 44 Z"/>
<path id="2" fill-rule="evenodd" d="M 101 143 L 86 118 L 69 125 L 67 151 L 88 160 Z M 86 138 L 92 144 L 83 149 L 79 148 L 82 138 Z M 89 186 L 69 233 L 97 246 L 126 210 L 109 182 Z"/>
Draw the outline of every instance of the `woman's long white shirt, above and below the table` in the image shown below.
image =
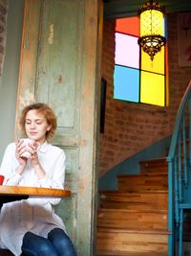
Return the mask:
<path id="1" fill-rule="evenodd" d="M 30 159 L 22 175 L 15 173 L 19 163 L 15 157 L 15 143 L 11 143 L 4 154 L 0 175 L 4 185 L 44 188 L 64 188 L 65 153 L 60 148 L 45 142 L 37 152 L 39 162 L 46 175 L 38 179 Z M 54 205 L 60 198 L 30 197 L 5 203 L 0 213 L 0 247 L 9 248 L 15 256 L 21 254 L 23 236 L 31 231 L 47 237 L 55 227 L 65 230 L 63 221 L 54 213 Z"/>

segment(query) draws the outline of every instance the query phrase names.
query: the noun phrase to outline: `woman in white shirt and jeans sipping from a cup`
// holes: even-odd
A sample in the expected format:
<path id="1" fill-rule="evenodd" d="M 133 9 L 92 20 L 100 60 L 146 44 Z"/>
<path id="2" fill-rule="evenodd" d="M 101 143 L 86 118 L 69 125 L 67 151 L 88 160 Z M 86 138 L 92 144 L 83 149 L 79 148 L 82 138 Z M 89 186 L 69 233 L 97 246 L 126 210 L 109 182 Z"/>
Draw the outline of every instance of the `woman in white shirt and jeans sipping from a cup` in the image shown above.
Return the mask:
<path id="1" fill-rule="evenodd" d="M 7 147 L 0 169 L 4 185 L 63 188 L 65 154 L 48 143 L 56 128 L 53 110 L 41 103 L 26 106 L 20 127 L 33 143 L 26 148 L 24 139 L 18 139 Z M 22 156 L 26 150 L 31 158 Z M 16 256 L 76 256 L 63 221 L 53 211 L 59 201 L 30 197 L 5 203 L 0 214 L 0 247 Z"/>

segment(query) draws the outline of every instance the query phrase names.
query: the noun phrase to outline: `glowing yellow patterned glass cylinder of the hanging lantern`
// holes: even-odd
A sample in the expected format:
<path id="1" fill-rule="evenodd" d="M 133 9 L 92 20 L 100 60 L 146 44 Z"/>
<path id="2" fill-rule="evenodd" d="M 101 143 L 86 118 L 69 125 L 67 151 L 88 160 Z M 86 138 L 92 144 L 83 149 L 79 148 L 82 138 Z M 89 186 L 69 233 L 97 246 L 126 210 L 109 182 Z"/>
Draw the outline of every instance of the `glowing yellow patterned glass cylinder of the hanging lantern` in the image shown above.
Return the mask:
<path id="1" fill-rule="evenodd" d="M 140 36 L 144 35 L 164 35 L 162 12 L 148 10 L 140 13 Z"/>

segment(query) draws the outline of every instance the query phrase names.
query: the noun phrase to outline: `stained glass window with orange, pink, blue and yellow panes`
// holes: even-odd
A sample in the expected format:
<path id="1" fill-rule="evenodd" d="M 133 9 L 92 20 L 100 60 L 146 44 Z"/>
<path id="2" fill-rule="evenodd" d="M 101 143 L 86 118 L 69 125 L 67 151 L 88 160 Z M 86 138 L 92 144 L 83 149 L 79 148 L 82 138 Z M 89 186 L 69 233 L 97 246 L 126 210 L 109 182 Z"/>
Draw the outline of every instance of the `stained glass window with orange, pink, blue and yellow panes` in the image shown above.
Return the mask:
<path id="1" fill-rule="evenodd" d="M 167 105 L 166 48 L 152 61 L 138 46 L 138 17 L 117 19 L 114 98 L 149 105 Z"/>

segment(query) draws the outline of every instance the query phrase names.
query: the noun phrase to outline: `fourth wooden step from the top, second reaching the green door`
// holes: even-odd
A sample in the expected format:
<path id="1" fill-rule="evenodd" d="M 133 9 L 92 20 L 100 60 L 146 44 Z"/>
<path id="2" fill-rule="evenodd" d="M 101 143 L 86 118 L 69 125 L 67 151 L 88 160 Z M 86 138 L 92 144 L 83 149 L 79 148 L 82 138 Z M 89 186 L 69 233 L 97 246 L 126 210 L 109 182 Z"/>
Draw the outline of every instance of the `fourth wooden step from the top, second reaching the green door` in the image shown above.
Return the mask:
<path id="1" fill-rule="evenodd" d="M 167 230 L 167 210 L 99 209 L 98 227 Z"/>

